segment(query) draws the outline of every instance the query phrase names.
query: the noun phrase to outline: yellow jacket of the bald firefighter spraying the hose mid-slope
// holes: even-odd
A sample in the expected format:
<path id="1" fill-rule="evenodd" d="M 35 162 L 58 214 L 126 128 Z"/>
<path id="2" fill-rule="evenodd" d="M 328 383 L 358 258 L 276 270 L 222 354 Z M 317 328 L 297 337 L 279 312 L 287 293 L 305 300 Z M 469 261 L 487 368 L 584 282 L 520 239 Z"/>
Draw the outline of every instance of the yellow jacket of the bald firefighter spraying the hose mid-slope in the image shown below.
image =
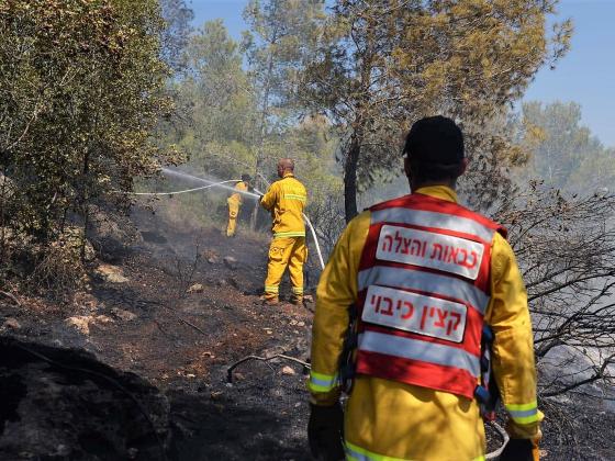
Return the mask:
<path id="1" fill-rule="evenodd" d="M 269 187 L 260 204 L 271 212 L 273 237 L 305 237 L 302 213 L 306 200 L 305 188 L 292 173 L 286 173 Z"/>

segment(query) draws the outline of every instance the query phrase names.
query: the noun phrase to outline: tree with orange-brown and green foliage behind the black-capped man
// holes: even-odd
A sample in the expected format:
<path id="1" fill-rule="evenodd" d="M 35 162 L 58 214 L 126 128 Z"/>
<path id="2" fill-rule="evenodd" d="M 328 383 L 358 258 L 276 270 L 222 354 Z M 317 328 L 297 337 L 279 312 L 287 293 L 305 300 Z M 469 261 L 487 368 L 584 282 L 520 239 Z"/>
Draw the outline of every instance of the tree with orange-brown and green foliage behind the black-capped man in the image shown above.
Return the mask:
<path id="1" fill-rule="evenodd" d="M 302 88 L 304 103 L 325 112 L 344 139 L 347 220 L 358 187 L 398 165 L 400 134 L 420 116 L 459 121 L 476 171 L 507 158 L 510 143 L 484 127 L 568 48 L 569 22 L 546 32 L 556 3 L 336 1 Z"/>

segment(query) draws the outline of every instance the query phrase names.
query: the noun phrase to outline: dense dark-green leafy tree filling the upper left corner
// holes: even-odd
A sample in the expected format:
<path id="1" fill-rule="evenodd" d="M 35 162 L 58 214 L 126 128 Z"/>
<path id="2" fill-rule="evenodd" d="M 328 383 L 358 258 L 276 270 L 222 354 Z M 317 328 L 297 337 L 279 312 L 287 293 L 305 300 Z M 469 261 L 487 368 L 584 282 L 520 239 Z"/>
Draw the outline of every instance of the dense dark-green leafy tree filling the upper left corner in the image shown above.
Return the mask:
<path id="1" fill-rule="evenodd" d="M 91 206 L 126 203 L 118 190 L 176 159 L 152 140 L 170 108 L 163 26 L 155 0 L 0 3 L 0 169 L 15 232 L 45 244 L 70 215 L 87 226 Z"/>

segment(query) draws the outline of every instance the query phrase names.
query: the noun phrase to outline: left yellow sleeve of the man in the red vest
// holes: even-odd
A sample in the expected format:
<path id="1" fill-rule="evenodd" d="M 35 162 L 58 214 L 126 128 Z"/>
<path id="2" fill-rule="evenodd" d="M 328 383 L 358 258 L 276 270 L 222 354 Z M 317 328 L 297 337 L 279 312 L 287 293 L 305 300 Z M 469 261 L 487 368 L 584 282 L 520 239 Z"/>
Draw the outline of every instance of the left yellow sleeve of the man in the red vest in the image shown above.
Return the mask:
<path id="1" fill-rule="evenodd" d="M 348 331 L 349 310 L 357 301 L 357 273 L 369 221 L 366 212 L 348 224 L 318 282 L 308 383 L 311 402 L 316 405 L 333 405 L 339 397 L 339 359 Z"/>

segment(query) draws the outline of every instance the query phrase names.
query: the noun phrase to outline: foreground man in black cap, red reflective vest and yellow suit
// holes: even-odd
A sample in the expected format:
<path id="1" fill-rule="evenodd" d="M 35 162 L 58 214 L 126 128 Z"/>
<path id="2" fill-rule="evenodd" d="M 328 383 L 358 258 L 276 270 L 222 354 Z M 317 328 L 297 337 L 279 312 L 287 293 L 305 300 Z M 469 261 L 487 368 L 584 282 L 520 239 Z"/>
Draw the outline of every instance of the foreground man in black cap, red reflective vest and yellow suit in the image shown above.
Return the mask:
<path id="1" fill-rule="evenodd" d="M 457 203 L 456 180 L 468 162 L 451 120 L 416 122 L 404 157 L 412 193 L 356 216 L 318 283 L 312 453 L 484 459 L 481 405 L 489 403 L 485 387 L 496 384 L 510 416 L 501 459 L 536 460 L 543 414 L 532 323 L 506 232 Z M 481 382 L 483 330 L 492 334 L 492 384 Z"/>

